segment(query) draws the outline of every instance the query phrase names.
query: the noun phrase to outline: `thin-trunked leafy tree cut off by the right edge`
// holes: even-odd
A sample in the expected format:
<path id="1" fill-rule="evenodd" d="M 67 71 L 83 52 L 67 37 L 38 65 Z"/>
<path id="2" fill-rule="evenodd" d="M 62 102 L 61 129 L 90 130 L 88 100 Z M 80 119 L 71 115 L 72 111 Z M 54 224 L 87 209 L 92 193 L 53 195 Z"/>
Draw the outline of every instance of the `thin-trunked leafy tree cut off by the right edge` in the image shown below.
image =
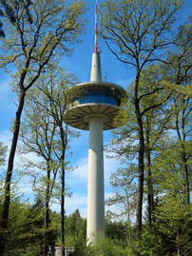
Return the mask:
<path id="1" fill-rule="evenodd" d="M 191 81 L 192 81 L 192 18 L 180 27 L 176 35 L 176 51 L 170 54 L 171 69 L 169 80 L 177 85 L 173 95 L 173 108 L 175 115 L 175 128 L 177 131 L 181 151 L 182 169 L 184 176 L 185 202 L 190 204 L 189 167 L 191 157 L 188 148 L 191 141 Z"/>

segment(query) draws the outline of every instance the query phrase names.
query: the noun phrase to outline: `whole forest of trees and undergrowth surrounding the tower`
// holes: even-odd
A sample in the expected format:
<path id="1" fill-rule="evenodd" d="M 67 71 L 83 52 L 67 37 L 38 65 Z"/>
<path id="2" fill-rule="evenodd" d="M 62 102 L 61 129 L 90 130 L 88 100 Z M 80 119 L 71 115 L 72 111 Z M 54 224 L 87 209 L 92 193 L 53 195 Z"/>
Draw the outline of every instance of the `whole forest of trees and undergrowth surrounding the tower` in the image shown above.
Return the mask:
<path id="1" fill-rule="evenodd" d="M 0 256 L 48 256 L 51 246 L 62 256 L 67 246 L 76 256 L 192 255 L 192 16 L 178 20 L 182 0 L 101 2 L 100 39 L 134 73 L 104 148 L 122 163 L 106 206 L 122 211 L 108 210 L 105 236 L 86 246 L 86 219 L 65 210 L 67 151 L 79 136 L 65 122 L 67 89 L 78 78 L 60 61 L 86 31 L 86 1 L 1 0 L 0 68 L 11 69 L 17 103 L 11 146 L 0 142 Z"/>

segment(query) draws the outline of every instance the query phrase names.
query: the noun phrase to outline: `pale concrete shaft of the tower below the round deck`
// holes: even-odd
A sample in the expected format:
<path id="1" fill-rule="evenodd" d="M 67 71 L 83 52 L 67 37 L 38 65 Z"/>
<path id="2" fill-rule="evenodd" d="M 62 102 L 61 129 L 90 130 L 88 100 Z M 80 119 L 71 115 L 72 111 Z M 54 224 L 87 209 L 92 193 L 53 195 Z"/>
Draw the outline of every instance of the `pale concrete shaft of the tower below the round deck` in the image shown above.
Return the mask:
<path id="1" fill-rule="evenodd" d="M 89 120 L 87 243 L 95 243 L 95 235 L 105 232 L 103 120 Z"/>

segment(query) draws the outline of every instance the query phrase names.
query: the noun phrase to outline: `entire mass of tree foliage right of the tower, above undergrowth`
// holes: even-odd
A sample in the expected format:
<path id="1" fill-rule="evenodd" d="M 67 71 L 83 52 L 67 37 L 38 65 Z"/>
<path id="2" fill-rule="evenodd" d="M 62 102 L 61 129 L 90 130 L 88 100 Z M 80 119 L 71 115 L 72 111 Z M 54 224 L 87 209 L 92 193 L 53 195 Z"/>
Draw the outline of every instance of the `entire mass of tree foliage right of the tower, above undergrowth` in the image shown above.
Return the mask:
<path id="1" fill-rule="evenodd" d="M 191 17 L 175 35 L 171 33 L 182 4 L 176 0 L 106 0 L 100 9 L 100 33 L 108 49 L 135 68 L 127 102 L 116 120 L 122 128 L 114 131 L 108 149 L 126 165 L 125 171 L 118 169 L 111 176 L 112 187 L 119 191 L 109 204 L 123 205 L 125 191 L 131 195 L 131 183 L 138 179 L 135 202 L 140 232 L 144 200 L 149 226 L 162 193 L 181 193 L 185 204 L 190 204 Z"/>

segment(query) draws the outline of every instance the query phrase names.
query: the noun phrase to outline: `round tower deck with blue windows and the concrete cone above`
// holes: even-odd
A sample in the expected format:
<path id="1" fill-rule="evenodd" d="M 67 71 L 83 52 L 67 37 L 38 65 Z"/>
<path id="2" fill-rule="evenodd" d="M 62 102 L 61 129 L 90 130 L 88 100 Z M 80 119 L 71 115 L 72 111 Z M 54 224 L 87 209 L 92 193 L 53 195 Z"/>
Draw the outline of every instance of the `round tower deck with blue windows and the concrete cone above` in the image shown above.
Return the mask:
<path id="1" fill-rule="evenodd" d="M 116 128 L 114 118 L 125 96 L 125 89 L 113 83 L 102 82 L 99 52 L 93 52 L 92 55 L 90 82 L 78 84 L 75 89 L 71 108 L 68 108 L 69 126 L 88 130 L 89 119 L 94 115 L 103 120 L 104 130 Z"/>

